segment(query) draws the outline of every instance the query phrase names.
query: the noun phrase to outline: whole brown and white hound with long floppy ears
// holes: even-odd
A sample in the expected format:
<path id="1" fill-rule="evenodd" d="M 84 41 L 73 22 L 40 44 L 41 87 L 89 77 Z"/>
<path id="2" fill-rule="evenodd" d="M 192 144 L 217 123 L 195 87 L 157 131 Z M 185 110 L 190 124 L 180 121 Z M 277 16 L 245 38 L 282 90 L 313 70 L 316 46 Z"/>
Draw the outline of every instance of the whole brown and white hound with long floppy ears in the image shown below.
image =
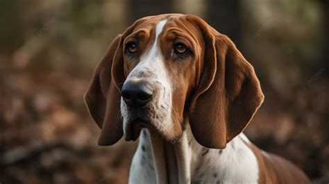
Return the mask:
<path id="1" fill-rule="evenodd" d="M 129 183 L 310 183 L 242 133 L 263 99 L 235 44 L 180 14 L 144 17 L 118 35 L 85 94 L 100 145 L 139 137 Z"/>

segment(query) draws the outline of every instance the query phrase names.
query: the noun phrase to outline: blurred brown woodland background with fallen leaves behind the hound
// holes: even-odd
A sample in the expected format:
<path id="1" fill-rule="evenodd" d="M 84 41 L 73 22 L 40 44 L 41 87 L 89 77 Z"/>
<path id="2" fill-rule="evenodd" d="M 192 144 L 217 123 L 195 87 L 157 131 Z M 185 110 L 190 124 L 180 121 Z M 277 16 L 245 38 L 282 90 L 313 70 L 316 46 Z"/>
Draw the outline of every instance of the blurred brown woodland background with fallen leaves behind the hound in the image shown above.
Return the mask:
<path id="1" fill-rule="evenodd" d="M 146 15 L 198 15 L 255 67 L 246 135 L 329 182 L 329 1 L 0 2 L 0 183 L 127 183 L 137 142 L 99 147 L 83 94 L 112 39 Z"/>

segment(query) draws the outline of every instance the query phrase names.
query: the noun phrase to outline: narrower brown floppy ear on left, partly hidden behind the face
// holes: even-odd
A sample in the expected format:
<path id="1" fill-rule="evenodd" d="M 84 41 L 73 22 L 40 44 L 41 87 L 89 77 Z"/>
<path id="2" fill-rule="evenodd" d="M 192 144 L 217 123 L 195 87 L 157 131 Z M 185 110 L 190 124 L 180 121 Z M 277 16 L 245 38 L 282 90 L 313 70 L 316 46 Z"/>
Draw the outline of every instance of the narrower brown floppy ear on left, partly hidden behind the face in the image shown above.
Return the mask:
<path id="1" fill-rule="evenodd" d="M 118 35 L 110 44 L 110 48 L 103 56 L 94 71 L 92 81 L 85 93 L 85 103 L 90 115 L 101 128 L 99 145 L 115 144 L 123 135 L 120 115 L 121 87 L 124 83 L 124 37 L 135 27 L 130 26 Z"/>

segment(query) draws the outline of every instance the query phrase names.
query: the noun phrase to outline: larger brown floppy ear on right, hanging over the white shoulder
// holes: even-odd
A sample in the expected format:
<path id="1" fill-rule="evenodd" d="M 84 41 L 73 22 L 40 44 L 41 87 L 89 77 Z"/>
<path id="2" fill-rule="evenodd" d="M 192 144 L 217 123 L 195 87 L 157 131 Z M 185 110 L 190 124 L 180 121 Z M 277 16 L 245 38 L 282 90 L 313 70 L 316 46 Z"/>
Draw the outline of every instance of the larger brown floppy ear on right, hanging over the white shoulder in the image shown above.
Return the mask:
<path id="1" fill-rule="evenodd" d="M 264 95 L 253 67 L 235 44 L 202 19 L 192 21 L 198 24 L 206 48 L 189 124 L 199 144 L 223 149 L 251 121 Z"/>

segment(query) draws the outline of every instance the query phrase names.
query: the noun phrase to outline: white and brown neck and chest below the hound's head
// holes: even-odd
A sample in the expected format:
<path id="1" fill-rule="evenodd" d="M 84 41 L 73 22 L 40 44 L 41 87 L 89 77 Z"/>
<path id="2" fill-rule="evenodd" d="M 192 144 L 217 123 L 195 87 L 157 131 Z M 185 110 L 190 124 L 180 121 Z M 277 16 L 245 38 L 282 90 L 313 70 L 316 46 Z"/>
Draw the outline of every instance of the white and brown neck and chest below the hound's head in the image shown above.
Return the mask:
<path id="1" fill-rule="evenodd" d="M 130 175 L 135 175 L 134 180 L 143 174 L 147 179 L 153 178 L 153 181 L 142 183 L 255 182 L 258 180 L 257 160 L 247 144 L 248 139 L 242 133 L 230 141 L 225 149 L 202 147 L 194 139 L 188 124 L 183 136 L 175 144 L 165 142 L 144 129 Z M 148 173 L 141 176 L 138 169 Z"/>

